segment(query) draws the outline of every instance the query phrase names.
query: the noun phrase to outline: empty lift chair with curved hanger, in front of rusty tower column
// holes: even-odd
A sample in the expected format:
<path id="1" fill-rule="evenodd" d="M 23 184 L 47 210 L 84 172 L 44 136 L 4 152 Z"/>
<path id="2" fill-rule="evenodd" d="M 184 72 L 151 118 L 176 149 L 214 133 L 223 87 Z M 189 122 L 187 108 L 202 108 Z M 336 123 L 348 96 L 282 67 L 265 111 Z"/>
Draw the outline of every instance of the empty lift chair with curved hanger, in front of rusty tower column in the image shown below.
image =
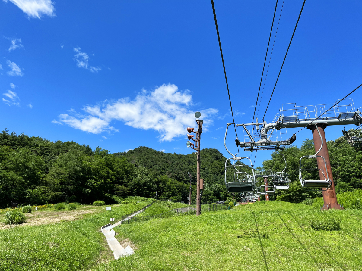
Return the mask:
<path id="1" fill-rule="evenodd" d="M 327 171 L 327 164 L 325 163 L 324 157 L 321 156 L 321 155 L 317 155 L 320 152 L 320 150 L 322 149 L 323 138 L 322 138 L 316 124 L 315 124 L 315 126 L 316 126 L 317 132 L 318 132 L 318 134 L 320 136 L 320 139 L 321 139 L 321 145 L 320 145 L 319 150 L 314 155 L 304 155 L 299 159 L 299 181 L 300 181 L 300 184 L 302 185 L 302 187 L 304 189 L 305 188 L 320 188 L 320 189 L 326 188 L 325 190 L 327 190 L 327 188 L 329 188 L 331 186 L 332 182 L 331 182 L 331 180 L 329 180 L 328 171 Z M 302 168 L 302 166 L 301 166 L 303 158 L 317 159 L 317 157 L 322 158 L 323 161 L 324 161 L 324 166 L 325 166 L 325 169 L 326 169 L 327 178 L 325 177 L 324 171 L 321 168 Z M 302 178 L 302 170 L 306 170 L 306 171 L 308 171 L 308 170 L 318 170 L 318 171 L 321 171 L 322 174 L 323 174 L 324 180 L 305 180 L 305 179 Z"/>

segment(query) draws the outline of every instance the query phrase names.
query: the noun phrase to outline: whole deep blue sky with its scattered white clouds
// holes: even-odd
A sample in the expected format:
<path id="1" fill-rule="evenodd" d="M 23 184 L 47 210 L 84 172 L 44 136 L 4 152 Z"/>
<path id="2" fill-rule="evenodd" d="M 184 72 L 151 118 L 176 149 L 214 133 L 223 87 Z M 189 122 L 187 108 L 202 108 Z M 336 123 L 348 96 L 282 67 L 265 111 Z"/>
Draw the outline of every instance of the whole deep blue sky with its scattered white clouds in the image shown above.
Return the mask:
<path id="1" fill-rule="evenodd" d="M 302 3 L 283 4 L 259 119 Z M 274 7 L 215 1 L 237 123 L 252 121 Z M 361 1 L 306 1 L 267 122 L 283 103 L 333 103 L 362 83 L 361 12 Z M 201 111 L 201 147 L 228 156 L 223 137 L 232 118 L 210 1 L 3 0 L 0 16 L 2 129 L 111 152 L 148 146 L 187 154 L 186 127 Z M 362 107 L 361 90 L 351 98 Z M 327 139 L 341 129 L 328 127 Z M 304 129 L 296 145 L 307 137 Z M 256 165 L 270 153 L 259 152 Z"/>

